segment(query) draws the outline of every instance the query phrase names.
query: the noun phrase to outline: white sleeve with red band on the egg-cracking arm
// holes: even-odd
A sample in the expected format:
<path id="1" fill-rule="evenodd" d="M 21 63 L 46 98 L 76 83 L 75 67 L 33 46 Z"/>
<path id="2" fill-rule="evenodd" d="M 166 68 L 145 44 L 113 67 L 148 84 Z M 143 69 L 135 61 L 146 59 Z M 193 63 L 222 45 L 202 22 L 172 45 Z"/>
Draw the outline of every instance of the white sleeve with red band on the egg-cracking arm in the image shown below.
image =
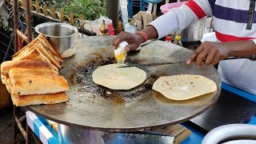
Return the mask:
<path id="1" fill-rule="evenodd" d="M 211 0 L 209 0 L 211 1 Z M 168 13 L 155 19 L 149 25 L 158 31 L 158 38 L 163 38 L 177 30 L 186 29 L 192 22 L 204 16 L 212 15 L 208 0 L 190 0 L 178 8 L 171 9 Z"/>

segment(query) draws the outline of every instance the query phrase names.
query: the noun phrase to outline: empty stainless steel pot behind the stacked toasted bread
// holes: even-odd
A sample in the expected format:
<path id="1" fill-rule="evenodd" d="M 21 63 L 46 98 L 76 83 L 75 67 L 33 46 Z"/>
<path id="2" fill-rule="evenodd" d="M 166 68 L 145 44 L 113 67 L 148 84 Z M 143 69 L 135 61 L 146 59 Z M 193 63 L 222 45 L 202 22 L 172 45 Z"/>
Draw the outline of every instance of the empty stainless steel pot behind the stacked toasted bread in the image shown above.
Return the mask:
<path id="1" fill-rule="evenodd" d="M 46 22 L 35 26 L 38 34 L 45 34 L 54 49 L 62 54 L 65 50 L 74 47 L 74 34 L 78 29 L 65 23 Z"/>

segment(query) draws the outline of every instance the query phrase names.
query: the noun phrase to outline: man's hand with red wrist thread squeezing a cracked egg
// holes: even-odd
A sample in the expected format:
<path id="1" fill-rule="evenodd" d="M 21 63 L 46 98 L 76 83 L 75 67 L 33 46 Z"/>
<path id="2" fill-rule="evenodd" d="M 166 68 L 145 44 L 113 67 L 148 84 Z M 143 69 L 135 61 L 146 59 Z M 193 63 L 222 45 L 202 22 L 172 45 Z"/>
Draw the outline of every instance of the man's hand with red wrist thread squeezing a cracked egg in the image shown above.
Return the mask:
<path id="1" fill-rule="evenodd" d="M 125 31 L 122 31 L 120 34 L 118 34 L 117 38 L 114 38 L 113 40 L 113 46 L 115 49 L 118 48 L 118 45 L 126 41 L 129 43 L 128 46 L 126 46 L 126 51 L 130 50 L 136 50 L 138 47 L 144 42 L 144 38 L 140 34 L 130 34 Z"/>

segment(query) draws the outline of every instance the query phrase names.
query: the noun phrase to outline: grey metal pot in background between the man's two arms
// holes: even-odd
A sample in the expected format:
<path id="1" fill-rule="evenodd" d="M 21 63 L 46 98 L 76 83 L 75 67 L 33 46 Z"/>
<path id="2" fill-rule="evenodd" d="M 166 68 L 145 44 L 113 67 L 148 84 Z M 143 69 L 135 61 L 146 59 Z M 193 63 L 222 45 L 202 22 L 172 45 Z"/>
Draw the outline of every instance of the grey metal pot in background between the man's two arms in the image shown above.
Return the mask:
<path id="1" fill-rule="evenodd" d="M 206 17 L 193 22 L 185 30 L 182 30 L 182 42 L 198 42 L 202 39 L 206 29 Z"/>

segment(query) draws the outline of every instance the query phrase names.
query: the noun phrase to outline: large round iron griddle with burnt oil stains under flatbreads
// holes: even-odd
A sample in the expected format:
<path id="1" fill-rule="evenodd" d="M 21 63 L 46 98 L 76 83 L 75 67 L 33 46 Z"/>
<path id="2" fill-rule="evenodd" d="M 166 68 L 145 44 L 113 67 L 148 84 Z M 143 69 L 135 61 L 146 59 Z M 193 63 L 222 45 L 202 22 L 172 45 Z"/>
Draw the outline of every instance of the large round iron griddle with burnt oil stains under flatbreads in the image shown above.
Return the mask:
<path id="1" fill-rule="evenodd" d="M 140 64 L 138 67 L 146 71 L 146 82 L 141 86 L 133 90 L 108 90 L 97 86 L 91 74 L 98 66 L 115 62 L 113 38 L 76 38 L 76 54 L 65 59 L 60 70 L 69 82 L 69 101 L 29 106 L 29 110 L 67 126 L 128 132 L 185 122 L 218 99 L 221 80 L 214 66 L 187 66 L 185 62 L 166 64 L 186 61 L 192 51 L 161 41 L 128 54 L 127 63 Z M 218 91 L 186 101 L 172 101 L 151 90 L 157 78 L 174 74 L 201 74 L 216 82 Z"/>

